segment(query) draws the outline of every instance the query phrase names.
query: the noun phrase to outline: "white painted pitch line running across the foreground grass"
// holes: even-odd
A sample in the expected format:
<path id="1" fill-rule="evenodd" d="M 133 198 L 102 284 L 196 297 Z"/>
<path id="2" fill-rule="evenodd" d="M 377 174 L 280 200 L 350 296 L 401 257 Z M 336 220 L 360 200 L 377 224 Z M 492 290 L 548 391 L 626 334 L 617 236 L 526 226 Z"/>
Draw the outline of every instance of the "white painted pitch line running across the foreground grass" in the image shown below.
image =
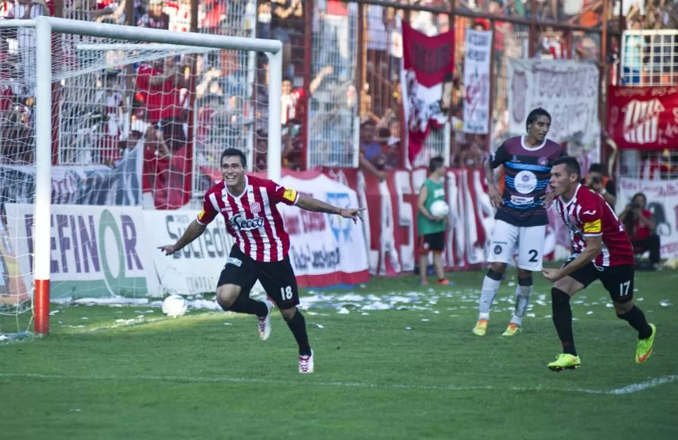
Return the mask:
<path id="1" fill-rule="evenodd" d="M 363 388 L 377 390 L 435 390 L 435 391 L 515 391 L 515 392 L 573 392 L 586 395 L 630 395 L 635 392 L 649 390 L 667 383 L 677 382 L 678 374 L 651 378 L 647 381 L 631 383 L 621 388 L 596 390 L 595 388 L 554 388 L 554 387 L 496 387 L 492 385 L 410 385 L 405 383 L 370 383 L 370 382 L 315 382 L 315 381 L 278 381 L 263 378 L 237 377 L 200 377 L 200 376 L 66 376 L 60 374 L 38 373 L 0 373 L 1 378 L 34 378 L 44 380 L 71 381 L 162 381 L 185 383 L 245 383 L 266 385 L 305 385 L 334 388 Z"/>

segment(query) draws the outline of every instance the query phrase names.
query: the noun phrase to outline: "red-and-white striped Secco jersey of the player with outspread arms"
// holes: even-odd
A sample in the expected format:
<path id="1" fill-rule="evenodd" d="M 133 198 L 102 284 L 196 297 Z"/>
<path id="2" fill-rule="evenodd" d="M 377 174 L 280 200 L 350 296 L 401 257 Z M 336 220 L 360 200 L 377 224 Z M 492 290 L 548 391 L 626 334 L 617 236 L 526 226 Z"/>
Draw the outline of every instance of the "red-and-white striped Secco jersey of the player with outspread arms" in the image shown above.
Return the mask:
<path id="1" fill-rule="evenodd" d="M 222 213 L 226 231 L 245 255 L 260 262 L 281 261 L 289 252 L 289 235 L 275 205 L 295 205 L 298 198 L 295 190 L 273 180 L 245 176 L 245 190 L 237 196 L 226 190 L 224 182 L 211 187 L 196 220 L 207 225 Z"/>

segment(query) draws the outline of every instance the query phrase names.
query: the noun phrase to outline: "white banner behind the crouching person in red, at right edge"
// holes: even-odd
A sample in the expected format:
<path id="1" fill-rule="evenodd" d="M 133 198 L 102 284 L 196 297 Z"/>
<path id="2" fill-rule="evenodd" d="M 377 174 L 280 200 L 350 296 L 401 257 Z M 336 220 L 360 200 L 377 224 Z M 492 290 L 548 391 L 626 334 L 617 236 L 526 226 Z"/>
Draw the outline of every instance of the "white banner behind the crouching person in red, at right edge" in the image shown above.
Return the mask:
<path id="1" fill-rule="evenodd" d="M 616 211 L 621 214 L 631 198 L 642 192 L 654 219 L 662 258 L 678 258 L 678 180 L 620 178 L 617 183 Z"/>

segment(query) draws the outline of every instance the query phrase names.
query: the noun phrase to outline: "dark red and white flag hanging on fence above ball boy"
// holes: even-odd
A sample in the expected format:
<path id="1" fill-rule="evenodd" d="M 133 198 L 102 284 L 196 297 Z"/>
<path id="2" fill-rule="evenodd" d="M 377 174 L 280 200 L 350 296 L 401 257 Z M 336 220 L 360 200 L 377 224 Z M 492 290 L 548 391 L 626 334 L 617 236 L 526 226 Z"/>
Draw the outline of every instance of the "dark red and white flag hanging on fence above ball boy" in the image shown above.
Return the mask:
<path id="1" fill-rule="evenodd" d="M 403 22 L 403 114 L 410 164 L 421 152 L 428 133 L 441 129 L 452 100 L 454 31 L 426 36 Z"/>

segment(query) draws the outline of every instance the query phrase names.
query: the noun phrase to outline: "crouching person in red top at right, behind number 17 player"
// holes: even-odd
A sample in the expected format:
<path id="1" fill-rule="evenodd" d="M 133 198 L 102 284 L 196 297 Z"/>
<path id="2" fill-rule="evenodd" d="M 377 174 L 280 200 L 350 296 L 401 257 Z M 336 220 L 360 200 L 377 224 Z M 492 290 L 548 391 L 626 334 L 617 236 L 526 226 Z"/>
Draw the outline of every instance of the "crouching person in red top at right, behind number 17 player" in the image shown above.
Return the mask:
<path id="1" fill-rule="evenodd" d="M 645 194 L 642 192 L 635 194 L 631 203 L 626 205 L 626 209 L 619 216 L 619 220 L 626 227 L 626 233 L 633 243 L 633 252 L 642 253 L 649 250 L 652 268 L 658 269 L 659 236 L 654 233 L 654 219 L 647 209 Z"/>

